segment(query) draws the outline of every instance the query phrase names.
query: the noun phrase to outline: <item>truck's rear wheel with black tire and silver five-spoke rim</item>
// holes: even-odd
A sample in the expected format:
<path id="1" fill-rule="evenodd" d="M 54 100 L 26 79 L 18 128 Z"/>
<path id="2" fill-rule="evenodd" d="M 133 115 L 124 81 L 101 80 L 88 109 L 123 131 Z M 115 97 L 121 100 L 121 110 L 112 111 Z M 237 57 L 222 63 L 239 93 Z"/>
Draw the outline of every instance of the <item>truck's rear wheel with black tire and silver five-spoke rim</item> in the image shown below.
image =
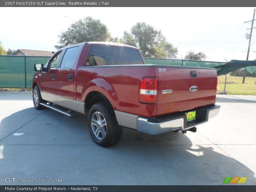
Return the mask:
<path id="1" fill-rule="evenodd" d="M 101 121 L 97 120 L 97 114 Z M 105 121 L 102 119 L 105 119 Z M 92 124 L 95 120 L 97 120 L 97 123 Z M 88 114 L 88 127 L 94 142 L 102 147 L 115 145 L 122 137 L 123 128 L 118 125 L 114 110 L 108 102 L 99 102 L 92 105 Z M 96 136 L 97 133 L 98 136 Z M 104 134 L 105 137 L 103 137 Z"/>

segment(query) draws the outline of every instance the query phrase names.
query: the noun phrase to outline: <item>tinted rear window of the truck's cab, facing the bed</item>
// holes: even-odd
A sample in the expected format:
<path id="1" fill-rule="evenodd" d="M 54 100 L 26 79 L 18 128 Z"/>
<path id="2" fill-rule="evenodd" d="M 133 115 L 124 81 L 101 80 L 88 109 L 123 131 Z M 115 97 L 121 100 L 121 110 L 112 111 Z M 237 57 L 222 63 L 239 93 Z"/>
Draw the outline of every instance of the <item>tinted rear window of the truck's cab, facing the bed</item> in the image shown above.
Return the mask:
<path id="1" fill-rule="evenodd" d="M 86 66 L 143 65 L 140 52 L 127 47 L 93 45 L 86 60 Z"/>

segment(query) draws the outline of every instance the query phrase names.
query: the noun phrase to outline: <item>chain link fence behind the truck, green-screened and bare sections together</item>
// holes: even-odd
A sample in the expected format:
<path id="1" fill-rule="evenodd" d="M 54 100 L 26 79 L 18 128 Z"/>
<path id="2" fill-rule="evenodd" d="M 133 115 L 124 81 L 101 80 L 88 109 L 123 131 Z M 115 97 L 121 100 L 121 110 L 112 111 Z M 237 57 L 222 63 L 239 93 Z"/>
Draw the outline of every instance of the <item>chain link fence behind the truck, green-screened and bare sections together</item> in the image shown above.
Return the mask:
<path id="1" fill-rule="evenodd" d="M 50 57 L 0 56 L 0 88 L 30 88 L 34 63 L 46 63 Z M 225 62 L 152 59 L 144 58 L 146 64 L 216 67 Z M 217 69 L 218 70 L 218 69 Z M 244 83 L 243 83 L 244 79 Z M 256 72 L 249 73 L 244 68 L 218 76 L 218 93 L 228 95 L 256 95 Z"/>

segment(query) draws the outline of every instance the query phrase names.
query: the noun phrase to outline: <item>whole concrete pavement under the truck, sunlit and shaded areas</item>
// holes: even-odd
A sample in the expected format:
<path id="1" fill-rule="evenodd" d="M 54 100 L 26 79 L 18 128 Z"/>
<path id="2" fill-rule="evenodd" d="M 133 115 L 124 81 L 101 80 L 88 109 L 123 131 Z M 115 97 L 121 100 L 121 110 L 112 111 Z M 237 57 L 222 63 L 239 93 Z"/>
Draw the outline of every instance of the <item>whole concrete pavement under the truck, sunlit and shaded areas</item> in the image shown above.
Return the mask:
<path id="1" fill-rule="evenodd" d="M 26 184 L 6 177 L 62 179 L 40 185 L 221 185 L 225 177 L 248 177 L 245 184 L 256 185 L 256 99 L 217 104 L 220 114 L 196 133 L 123 129 L 117 145 L 102 148 L 86 116 L 36 110 L 31 92 L 0 92 L 0 185 Z"/>

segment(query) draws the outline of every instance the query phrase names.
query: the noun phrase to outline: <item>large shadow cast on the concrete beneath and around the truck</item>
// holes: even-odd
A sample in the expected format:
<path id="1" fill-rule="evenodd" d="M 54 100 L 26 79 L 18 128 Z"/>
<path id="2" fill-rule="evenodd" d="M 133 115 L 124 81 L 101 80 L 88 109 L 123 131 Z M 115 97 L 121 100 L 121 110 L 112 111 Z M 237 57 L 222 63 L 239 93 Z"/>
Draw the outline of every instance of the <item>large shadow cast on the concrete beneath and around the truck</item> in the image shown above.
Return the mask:
<path id="1" fill-rule="evenodd" d="M 0 184 L 7 184 L 9 175 L 60 178 L 62 185 L 221 185 L 226 177 L 248 177 L 245 184 L 256 184 L 251 169 L 198 132 L 148 135 L 123 129 L 117 145 L 103 148 L 92 141 L 86 119 L 34 108 L 2 119 Z"/>

